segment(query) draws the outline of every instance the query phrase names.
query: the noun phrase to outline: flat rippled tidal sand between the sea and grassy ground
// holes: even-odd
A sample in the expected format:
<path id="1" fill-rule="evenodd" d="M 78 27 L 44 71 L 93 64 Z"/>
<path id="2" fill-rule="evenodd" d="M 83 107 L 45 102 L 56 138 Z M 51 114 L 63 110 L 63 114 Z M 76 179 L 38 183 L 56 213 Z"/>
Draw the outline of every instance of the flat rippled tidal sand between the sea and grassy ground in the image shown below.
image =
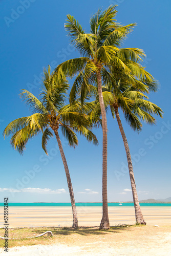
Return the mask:
<path id="1" fill-rule="evenodd" d="M 3 226 L 3 207 L 1 222 Z M 147 225 L 171 225 L 171 207 L 143 206 L 141 207 Z M 99 226 L 102 217 L 100 206 L 77 206 L 79 226 Z M 9 227 L 42 227 L 72 226 L 72 208 L 70 206 L 11 206 L 9 207 Z M 110 206 L 110 225 L 135 224 L 133 206 Z"/>

